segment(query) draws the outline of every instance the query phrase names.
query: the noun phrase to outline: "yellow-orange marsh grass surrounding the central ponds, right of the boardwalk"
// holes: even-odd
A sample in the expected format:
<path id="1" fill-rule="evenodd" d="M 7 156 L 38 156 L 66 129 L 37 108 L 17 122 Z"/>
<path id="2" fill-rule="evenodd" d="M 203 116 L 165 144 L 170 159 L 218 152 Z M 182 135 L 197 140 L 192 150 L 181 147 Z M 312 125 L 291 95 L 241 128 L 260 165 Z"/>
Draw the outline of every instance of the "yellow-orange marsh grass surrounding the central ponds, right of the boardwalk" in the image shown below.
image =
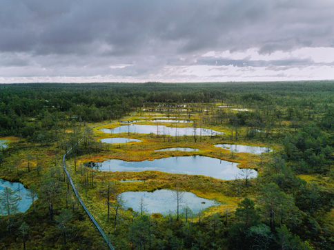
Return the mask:
<path id="1" fill-rule="evenodd" d="M 161 114 L 164 115 L 164 114 Z M 132 116 L 127 118 L 125 121 L 135 121 L 141 116 Z M 150 118 L 159 118 L 159 116 L 150 116 Z M 181 118 L 181 117 L 180 117 Z M 202 116 L 195 114 L 191 119 L 199 121 Z M 142 121 L 137 124 L 143 125 L 156 125 L 157 123 L 150 121 Z M 166 125 L 174 127 L 175 123 L 159 123 L 159 125 Z M 119 121 L 110 123 L 107 125 L 101 125 L 95 127 L 95 135 L 99 138 L 110 138 L 110 137 L 126 137 L 126 138 L 136 138 L 141 140 L 137 143 L 126 143 L 122 145 L 110 145 L 104 144 L 104 149 L 99 152 L 99 154 L 86 154 L 79 156 L 78 163 L 83 164 L 89 161 L 102 162 L 107 159 L 121 159 L 121 160 L 131 160 L 131 161 L 141 161 L 141 160 L 155 160 L 158 158 L 172 157 L 172 156 L 208 156 L 219 158 L 222 160 L 229 160 L 235 163 L 239 163 L 238 167 L 243 168 L 253 168 L 259 171 L 259 175 L 262 171 L 262 164 L 266 163 L 271 158 L 271 154 L 253 155 L 247 153 L 235 153 L 231 154 L 228 149 L 220 149 L 214 145 L 217 143 L 236 143 L 229 139 L 228 134 L 230 129 L 224 125 L 219 126 L 204 126 L 202 127 L 208 129 L 215 129 L 220 132 L 225 132 L 224 135 L 218 136 L 202 136 L 197 135 L 197 140 L 195 142 L 193 136 L 163 136 L 156 134 L 137 134 L 137 133 L 121 133 L 121 134 L 109 134 L 101 132 L 99 129 L 108 128 L 112 129 L 118 127 L 119 125 L 125 125 L 124 123 L 119 123 Z M 177 123 L 177 127 L 192 127 L 192 123 Z M 244 129 L 240 129 L 243 133 Z M 239 144 L 243 145 L 254 145 L 266 147 L 267 144 L 264 143 L 252 143 L 249 140 L 241 138 L 237 141 Z M 200 149 L 199 152 L 155 152 L 157 149 L 167 148 L 167 147 L 192 147 Z M 279 147 L 271 145 L 275 149 Z M 262 159 L 261 159 L 262 158 Z M 215 213 L 217 211 L 224 213 L 226 209 L 228 211 L 234 211 L 237 207 L 237 203 L 240 202 L 245 196 L 255 198 L 259 187 L 257 187 L 257 180 L 250 180 L 250 187 L 246 187 L 243 184 L 243 180 L 217 180 L 215 178 L 210 178 L 206 176 L 189 176 L 186 174 L 168 174 L 160 171 L 123 171 L 123 172 L 108 172 L 108 171 L 95 171 L 95 187 L 88 190 L 87 197 L 83 195 L 83 184 L 82 178 L 77 171 L 74 173 L 74 168 L 72 166 L 72 161 L 68 160 L 68 165 L 71 167 L 73 176 L 75 176 L 75 182 L 79 185 L 81 190 L 81 197 L 85 202 L 87 202 L 88 207 L 92 210 L 104 227 L 108 230 L 112 230 L 112 223 L 106 222 L 106 204 L 104 198 L 101 196 L 104 190 L 103 183 L 108 180 L 142 180 L 141 182 L 132 183 L 120 183 L 117 182 L 117 192 L 122 193 L 124 191 L 155 191 L 157 189 L 175 189 L 175 187 L 180 187 L 184 191 L 190 191 L 199 197 L 214 199 L 220 202 L 221 205 L 217 207 L 211 207 L 206 209 L 205 213 L 209 215 L 210 213 Z M 121 211 L 124 218 L 131 217 L 131 211 Z"/>

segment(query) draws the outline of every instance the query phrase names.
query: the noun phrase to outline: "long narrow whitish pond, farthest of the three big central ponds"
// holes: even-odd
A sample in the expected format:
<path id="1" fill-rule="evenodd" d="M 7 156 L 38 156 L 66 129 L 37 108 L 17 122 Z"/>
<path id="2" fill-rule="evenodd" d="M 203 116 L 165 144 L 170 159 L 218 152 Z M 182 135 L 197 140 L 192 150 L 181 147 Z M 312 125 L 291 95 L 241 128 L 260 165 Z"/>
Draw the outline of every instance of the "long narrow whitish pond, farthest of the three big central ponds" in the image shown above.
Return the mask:
<path id="1" fill-rule="evenodd" d="M 193 127 L 167 127 L 165 125 L 140 125 L 140 124 L 130 124 L 130 125 L 123 125 L 119 127 L 115 127 L 115 129 L 101 129 L 102 132 L 105 133 L 142 133 L 142 134 L 157 134 L 159 135 L 165 134 L 169 136 L 192 136 L 194 135 L 194 130 L 199 136 L 214 136 L 217 134 L 224 134 L 224 132 L 219 132 L 213 129 L 205 129 L 197 127 L 194 129 Z M 202 131 L 201 131 L 202 130 Z"/>

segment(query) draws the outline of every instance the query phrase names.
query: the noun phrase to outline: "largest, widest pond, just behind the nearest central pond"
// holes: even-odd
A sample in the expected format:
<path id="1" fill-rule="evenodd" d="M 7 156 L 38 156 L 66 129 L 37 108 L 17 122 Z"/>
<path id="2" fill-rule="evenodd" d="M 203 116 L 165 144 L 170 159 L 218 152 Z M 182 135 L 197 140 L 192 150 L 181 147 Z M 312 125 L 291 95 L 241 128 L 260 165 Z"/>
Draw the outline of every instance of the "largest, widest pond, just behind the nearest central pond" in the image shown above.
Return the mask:
<path id="1" fill-rule="evenodd" d="M 143 161 L 111 159 L 102 163 L 85 163 L 86 166 L 101 171 L 157 170 L 173 174 L 197 174 L 222 180 L 233 180 L 236 176 L 242 178 L 242 169 L 239 169 L 237 164 L 207 156 L 177 156 Z M 251 177 L 256 176 L 257 171 L 253 170 Z"/>

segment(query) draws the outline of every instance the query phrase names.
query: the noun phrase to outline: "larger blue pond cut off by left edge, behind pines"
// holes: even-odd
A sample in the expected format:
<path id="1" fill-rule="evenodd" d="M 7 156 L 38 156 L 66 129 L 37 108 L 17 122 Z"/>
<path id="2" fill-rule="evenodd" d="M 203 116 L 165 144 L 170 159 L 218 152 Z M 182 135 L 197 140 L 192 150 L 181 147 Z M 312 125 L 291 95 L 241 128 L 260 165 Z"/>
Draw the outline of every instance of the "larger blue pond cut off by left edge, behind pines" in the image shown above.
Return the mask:
<path id="1" fill-rule="evenodd" d="M 0 179 L 0 194 L 3 192 L 5 187 L 10 187 L 12 190 L 17 192 L 16 193 L 17 196 L 22 198 L 17 203 L 19 212 L 24 213 L 25 211 L 27 211 L 30 205 L 32 204 L 31 198 L 27 196 L 28 189 L 23 187 L 21 183 L 12 183 L 10 181 Z M 0 214 L 4 215 L 5 213 L 0 213 Z"/>

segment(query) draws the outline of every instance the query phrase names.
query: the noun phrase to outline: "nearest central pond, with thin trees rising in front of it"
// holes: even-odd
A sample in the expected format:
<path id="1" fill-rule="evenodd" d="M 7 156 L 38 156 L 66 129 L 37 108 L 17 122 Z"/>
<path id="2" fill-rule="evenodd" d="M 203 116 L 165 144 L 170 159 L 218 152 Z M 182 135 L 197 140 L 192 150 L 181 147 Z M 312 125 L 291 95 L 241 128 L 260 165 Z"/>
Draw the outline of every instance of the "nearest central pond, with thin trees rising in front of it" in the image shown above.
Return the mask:
<path id="1" fill-rule="evenodd" d="M 124 207 L 132 207 L 135 211 L 141 211 L 141 198 L 143 198 L 143 208 L 147 213 L 176 213 L 177 199 L 172 190 L 156 190 L 153 193 L 148 191 L 129 191 L 121 194 L 124 200 Z M 183 192 L 179 200 L 179 213 L 184 207 L 189 207 L 193 213 L 198 213 L 202 209 L 217 206 L 214 200 L 200 198 L 193 193 Z"/>

